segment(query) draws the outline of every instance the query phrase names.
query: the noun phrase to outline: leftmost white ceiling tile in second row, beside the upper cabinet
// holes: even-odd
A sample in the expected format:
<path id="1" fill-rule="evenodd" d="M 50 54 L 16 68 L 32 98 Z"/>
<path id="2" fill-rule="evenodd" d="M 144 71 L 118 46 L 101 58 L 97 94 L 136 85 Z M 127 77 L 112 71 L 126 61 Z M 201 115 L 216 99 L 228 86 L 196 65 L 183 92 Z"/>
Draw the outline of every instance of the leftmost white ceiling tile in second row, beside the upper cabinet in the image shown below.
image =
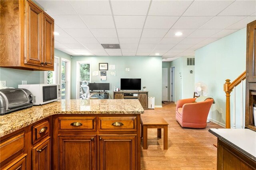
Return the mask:
<path id="1" fill-rule="evenodd" d="M 78 15 L 51 15 L 60 28 L 87 28 Z"/>

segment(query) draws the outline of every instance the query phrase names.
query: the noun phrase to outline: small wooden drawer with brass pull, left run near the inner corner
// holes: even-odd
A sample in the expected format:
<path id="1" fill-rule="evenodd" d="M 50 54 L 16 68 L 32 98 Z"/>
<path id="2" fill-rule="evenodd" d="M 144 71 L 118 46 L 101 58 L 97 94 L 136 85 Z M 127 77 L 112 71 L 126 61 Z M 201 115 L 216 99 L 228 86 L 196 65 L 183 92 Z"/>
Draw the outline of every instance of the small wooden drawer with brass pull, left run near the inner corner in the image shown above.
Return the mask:
<path id="1" fill-rule="evenodd" d="M 34 126 L 32 126 L 32 137 L 33 144 L 44 138 L 45 136 L 49 136 L 50 132 L 50 123 L 49 120 L 40 122 Z"/>

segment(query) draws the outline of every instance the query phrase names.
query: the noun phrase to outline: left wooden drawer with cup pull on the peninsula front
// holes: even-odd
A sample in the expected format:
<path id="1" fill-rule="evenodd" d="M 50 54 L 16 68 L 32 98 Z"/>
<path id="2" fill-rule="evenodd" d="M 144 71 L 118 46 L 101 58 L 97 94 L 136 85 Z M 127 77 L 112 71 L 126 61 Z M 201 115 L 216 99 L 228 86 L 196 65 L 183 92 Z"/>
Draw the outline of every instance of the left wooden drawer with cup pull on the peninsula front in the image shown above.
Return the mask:
<path id="1" fill-rule="evenodd" d="M 60 129 L 62 130 L 86 130 L 96 131 L 95 117 L 61 117 L 59 118 Z"/>

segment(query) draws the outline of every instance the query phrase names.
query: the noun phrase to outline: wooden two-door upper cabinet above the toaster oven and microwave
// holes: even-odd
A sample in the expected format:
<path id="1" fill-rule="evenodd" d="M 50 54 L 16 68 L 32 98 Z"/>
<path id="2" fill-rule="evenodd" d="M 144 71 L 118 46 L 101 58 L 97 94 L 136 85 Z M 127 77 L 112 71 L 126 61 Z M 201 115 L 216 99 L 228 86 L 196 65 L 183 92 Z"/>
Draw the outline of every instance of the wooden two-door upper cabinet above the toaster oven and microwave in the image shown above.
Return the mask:
<path id="1" fill-rule="evenodd" d="M 0 3 L 0 67 L 54 70 L 54 20 L 31 0 Z"/>

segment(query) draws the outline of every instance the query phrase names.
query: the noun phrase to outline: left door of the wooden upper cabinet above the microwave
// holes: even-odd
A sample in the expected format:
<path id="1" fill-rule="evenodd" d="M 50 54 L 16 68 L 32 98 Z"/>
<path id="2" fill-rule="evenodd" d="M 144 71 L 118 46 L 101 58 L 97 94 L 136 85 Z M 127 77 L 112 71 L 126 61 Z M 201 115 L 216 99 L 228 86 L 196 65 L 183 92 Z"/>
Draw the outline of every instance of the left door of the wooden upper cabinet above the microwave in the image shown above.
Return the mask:
<path id="1" fill-rule="evenodd" d="M 42 11 L 27 1 L 27 54 L 25 63 L 40 65 L 42 61 Z"/>

